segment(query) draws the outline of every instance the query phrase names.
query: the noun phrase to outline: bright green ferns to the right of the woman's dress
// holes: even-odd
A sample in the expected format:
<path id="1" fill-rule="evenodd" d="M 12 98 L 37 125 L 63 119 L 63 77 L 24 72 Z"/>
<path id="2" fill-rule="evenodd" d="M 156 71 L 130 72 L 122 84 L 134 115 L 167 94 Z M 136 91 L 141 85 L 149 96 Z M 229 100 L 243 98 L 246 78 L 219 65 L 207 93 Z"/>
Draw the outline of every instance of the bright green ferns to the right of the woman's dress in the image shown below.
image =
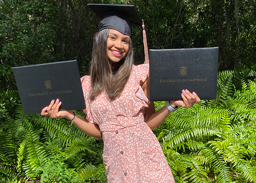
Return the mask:
<path id="1" fill-rule="evenodd" d="M 216 100 L 179 108 L 157 129 L 177 182 L 255 182 L 256 83 L 236 90 L 237 74 L 220 72 Z"/>

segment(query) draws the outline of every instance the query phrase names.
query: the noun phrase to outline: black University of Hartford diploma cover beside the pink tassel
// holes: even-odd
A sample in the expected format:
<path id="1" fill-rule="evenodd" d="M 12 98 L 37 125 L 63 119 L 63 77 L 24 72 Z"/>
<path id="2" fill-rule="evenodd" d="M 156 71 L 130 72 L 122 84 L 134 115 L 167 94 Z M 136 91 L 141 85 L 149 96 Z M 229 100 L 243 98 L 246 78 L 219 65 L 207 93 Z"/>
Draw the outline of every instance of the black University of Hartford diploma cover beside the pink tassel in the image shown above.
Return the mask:
<path id="1" fill-rule="evenodd" d="M 182 100 L 183 89 L 216 99 L 218 47 L 149 50 L 149 100 Z"/>

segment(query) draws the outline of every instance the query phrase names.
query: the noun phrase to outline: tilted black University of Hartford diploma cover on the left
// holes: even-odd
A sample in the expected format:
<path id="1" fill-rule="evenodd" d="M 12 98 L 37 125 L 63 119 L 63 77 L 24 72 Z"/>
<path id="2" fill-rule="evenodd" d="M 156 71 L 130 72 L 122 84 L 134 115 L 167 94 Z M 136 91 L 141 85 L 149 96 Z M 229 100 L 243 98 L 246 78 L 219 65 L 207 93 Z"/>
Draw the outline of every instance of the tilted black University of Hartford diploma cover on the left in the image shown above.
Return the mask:
<path id="1" fill-rule="evenodd" d="M 24 114 L 41 113 L 52 100 L 61 110 L 85 109 L 76 60 L 12 68 Z"/>

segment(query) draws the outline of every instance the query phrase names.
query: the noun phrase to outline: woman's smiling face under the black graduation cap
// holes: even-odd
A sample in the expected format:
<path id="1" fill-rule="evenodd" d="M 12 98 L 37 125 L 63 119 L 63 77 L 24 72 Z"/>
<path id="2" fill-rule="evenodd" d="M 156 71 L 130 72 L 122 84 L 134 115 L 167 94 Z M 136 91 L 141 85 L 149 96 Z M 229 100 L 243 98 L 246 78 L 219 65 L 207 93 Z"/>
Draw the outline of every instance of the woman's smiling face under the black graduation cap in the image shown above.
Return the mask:
<path id="1" fill-rule="evenodd" d="M 114 29 L 110 29 L 107 40 L 107 54 L 108 58 L 111 60 L 112 66 L 126 56 L 129 50 L 129 43 L 129 36 Z"/>

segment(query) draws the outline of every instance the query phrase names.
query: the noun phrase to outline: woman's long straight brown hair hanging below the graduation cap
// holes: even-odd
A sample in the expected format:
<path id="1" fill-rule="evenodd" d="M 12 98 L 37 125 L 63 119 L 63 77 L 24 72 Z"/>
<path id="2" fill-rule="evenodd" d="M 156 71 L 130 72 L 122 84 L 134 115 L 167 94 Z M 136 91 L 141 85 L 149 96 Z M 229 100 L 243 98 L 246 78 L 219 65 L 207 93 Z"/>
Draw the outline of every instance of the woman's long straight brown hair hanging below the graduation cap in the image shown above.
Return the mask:
<path id="1" fill-rule="evenodd" d="M 109 31 L 110 29 L 103 29 L 97 32 L 93 38 L 93 53 L 90 66 L 90 100 L 92 101 L 103 91 L 107 92 L 110 100 L 115 100 L 125 88 L 134 61 L 133 47 L 130 39 L 126 57 L 119 61 L 117 70 L 113 71 L 107 56 Z"/>

